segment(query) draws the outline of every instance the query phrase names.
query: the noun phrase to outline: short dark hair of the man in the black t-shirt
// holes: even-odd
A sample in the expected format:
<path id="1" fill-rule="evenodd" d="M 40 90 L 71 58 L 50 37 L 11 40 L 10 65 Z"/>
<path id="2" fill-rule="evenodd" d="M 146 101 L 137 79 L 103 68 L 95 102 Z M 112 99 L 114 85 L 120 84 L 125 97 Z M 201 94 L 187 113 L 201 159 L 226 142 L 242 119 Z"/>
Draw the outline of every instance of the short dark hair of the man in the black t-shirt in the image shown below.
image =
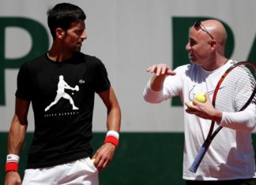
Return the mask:
<path id="1" fill-rule="evenodd" d="M 48 27 L 54 39 L 56 37 L 56 28 L 67 30 L 73 22 L 86 19 L 85 12 L 81 8 L 66 2 L 59 3 L 52 9 L 48 9 L 47 15 Z"/>

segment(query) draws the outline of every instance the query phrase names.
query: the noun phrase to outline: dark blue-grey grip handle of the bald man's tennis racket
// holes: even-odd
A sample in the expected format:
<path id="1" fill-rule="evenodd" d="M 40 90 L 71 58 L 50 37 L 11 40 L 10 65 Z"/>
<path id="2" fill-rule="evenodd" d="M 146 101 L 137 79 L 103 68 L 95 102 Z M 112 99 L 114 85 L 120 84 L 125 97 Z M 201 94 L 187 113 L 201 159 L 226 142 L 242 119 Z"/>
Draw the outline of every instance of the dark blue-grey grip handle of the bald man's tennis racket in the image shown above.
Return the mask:
<path id="1" fill-rule="evenodd" d="M 194 159 L 193 164 L 190 166 L 190 172 L 197 172 L 198 166 L 200 165 L 201 160 L 205 156 L 205 153 L 208 150 L 210 144 L 211 141 L 209 141 L 209 139 L 206 139 L 204 144 L 201 146 L 201 149 L 199 150 L 197 157 Z"/>

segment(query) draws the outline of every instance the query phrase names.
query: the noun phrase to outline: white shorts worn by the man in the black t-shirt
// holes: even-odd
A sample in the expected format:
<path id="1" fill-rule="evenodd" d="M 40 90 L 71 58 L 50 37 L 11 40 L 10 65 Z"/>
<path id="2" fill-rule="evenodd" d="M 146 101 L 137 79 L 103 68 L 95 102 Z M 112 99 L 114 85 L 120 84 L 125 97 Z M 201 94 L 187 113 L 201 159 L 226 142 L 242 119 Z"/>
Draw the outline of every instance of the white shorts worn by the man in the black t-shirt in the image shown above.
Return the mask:
<path id="1" fill-rule="evenodd" d="M 98 170 L 89 157 L 50 168 L 26 169 L 22 185 L 99 185 Z"/>

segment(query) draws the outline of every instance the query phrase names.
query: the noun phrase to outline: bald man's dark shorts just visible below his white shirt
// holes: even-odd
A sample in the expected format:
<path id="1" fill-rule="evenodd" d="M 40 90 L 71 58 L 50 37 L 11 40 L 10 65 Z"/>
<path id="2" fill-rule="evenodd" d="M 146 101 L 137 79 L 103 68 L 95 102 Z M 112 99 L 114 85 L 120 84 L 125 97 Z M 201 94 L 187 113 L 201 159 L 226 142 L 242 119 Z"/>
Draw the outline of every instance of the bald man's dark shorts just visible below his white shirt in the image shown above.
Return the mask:
<path id="1" fill-rule="evenodd" d="M 233 179 L 233 180 L 186 180 L 186 185 L 256 185 L 256 179 Z"/>

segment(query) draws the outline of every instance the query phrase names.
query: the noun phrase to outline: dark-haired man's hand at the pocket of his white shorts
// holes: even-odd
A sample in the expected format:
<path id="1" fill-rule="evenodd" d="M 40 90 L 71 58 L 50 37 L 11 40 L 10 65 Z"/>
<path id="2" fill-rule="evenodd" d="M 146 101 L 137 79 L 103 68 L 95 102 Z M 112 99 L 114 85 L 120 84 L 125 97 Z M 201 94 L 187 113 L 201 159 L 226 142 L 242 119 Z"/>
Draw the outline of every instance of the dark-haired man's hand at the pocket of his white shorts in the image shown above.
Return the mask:
<path id="1" fill-rule="evenodd" d="M 96 151 L 96 154 L 92 158 L 95 159 L 94 165 L 98 171 L 104 170 L 107 165 L 111 162 L 115 153 L 115 145 L 110 142 L 106 142 L 103 146 Z"/>

